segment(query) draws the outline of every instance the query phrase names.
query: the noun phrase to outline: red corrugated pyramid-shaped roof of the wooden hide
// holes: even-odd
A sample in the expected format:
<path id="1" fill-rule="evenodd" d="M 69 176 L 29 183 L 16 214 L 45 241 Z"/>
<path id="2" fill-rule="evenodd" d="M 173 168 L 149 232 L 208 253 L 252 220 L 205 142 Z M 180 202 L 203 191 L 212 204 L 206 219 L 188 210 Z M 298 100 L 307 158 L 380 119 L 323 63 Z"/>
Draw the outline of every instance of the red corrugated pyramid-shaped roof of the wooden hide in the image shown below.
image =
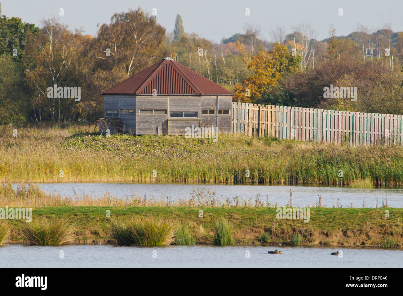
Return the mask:
<path id="1" fill-rule="evenodd" d="M 233 95 L 181 63 L 165 58 L 135 75 L 115 84 L 102 94 L 219 94 Z"/>

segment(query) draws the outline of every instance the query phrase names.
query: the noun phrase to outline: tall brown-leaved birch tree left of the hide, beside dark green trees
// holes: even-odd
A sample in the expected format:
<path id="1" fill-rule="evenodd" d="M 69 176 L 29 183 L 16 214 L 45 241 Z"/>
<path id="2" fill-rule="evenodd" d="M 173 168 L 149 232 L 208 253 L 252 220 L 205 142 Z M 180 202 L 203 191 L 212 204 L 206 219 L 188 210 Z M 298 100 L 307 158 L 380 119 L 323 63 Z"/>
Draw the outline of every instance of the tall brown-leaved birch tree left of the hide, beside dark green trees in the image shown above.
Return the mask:
<path id="1" fill-rule="evenodd" d="M 81 31 L 73 33 L 56 19 L 42 21 L 38 35 L 30 34 L 24 48 L 26 82 L 34 91 L 31 105 L 36 121 L 62 120 L 74 99 L 48 98 L 47 88 L 79 87 L 73 63 L 78 59 Z"/>

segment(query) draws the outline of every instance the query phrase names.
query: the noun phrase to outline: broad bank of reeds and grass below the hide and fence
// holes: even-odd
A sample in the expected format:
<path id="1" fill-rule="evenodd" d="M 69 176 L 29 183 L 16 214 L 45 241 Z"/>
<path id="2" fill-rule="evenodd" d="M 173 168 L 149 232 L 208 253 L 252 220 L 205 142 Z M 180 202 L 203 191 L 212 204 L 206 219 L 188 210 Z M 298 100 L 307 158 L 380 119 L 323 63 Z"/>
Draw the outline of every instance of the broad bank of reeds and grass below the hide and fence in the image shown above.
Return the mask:
<path id="1" fill-rule="evenodd" d="M 248 170 L 248 171 L 247 171 Z M 229 134 L 101 136 L 96 126 L 0 128 L 0 182 L 403 185 L 403 147 L 348 147 Z"/>

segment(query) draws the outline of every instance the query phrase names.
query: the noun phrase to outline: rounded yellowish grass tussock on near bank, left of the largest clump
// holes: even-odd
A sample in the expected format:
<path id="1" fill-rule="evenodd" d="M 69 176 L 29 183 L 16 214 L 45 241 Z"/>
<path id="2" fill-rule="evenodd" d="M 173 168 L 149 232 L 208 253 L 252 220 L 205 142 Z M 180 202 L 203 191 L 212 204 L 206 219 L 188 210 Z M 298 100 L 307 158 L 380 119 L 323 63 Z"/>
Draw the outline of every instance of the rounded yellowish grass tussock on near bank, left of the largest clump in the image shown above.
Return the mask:
<path id="1" fill-rule="evenodd" d="M 39 246 L 59 246 L 75 237 L 75 225 L 67 220 L 34 220 L 26 223 L 22 233 L 29 244 Z"/>

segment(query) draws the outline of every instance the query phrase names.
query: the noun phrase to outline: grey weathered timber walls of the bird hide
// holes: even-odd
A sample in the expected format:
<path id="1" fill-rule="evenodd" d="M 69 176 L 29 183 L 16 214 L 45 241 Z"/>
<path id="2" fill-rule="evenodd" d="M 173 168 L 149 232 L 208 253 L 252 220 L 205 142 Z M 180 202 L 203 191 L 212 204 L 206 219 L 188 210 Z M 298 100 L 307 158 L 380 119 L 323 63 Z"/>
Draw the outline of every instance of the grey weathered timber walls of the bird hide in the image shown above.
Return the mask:
<path id="1" fill-rule="evenodd" d="M 218 100 L 218 106 L 217 106 Z M 218 107 L 218 109 L 217 109 Z M 133 114 L 121 113 L 122 109 L 134 109 Z M 165 110 L 162 113 L 140 113 L 140 110 Z M 215 113 L 203 114 L 203 110 L 212 109 Z M 229 114 L 219 114 L 218 110 L 229 110 Z M 185 128 L 192 125 L 217 127 L 222 133 L 232 132 L 232 96 L 158 96 L 151 95 L 105 95 L 105 111 L 116 111 L 119 113 L 116 120 L 125 126 L 126 132 L 132 134 L 185 134 Z M 197 112 L 197 118 L 171 118 L 170 111 L 191 111 Z M 111 118 L 109 118 L 111 119 Z M 115 130 L 111 129 L 111 133 Z"/>

